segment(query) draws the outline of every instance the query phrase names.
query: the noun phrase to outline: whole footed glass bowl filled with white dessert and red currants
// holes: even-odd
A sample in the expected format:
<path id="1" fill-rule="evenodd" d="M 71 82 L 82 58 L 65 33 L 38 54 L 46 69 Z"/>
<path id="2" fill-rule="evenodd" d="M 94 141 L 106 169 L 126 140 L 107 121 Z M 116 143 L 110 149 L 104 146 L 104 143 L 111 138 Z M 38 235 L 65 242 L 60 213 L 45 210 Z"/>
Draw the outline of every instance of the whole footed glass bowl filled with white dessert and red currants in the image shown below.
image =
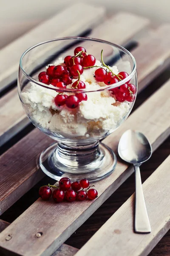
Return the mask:
<path id="1" fill-rule="evenodd" d="M 40 155 L 42 171 L 55 180 L 95 181 L 111 174 L 116 156 L 99 140 L 125 121 L 136 91 L 135 59 L 116 44 L 72 37 L 26 50 L 20 100 L 30 121 L 56 141 Z"/>

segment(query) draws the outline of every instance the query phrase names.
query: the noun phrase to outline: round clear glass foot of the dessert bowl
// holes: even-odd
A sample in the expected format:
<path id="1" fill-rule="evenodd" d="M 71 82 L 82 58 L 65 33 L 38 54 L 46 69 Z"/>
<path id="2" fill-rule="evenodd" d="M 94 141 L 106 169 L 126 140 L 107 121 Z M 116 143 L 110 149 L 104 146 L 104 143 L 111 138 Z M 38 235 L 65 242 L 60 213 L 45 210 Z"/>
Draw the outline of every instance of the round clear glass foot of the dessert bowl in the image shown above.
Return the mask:
<path id="1" fill-rule="evenodd" d="M 68 177 L 71 181 L 81 180 L 83 178 L 89 181 L 101 180 L 110 175 L 116 167 L 117 159 L 111 148 L 103 143 L 99 143 L 97 154 L 94 159 L 90 159 L 91 152 L 81 152 L 81 157 L 75 159 L 65 158 L 59 155 L 59 145 L 54 143 L 42 151 L 40 155 L 40 167 L 42 171 L 53 178 L 60 180 L 61 177 Z M 90 161 L 89 161 L 90 159 Z"/>

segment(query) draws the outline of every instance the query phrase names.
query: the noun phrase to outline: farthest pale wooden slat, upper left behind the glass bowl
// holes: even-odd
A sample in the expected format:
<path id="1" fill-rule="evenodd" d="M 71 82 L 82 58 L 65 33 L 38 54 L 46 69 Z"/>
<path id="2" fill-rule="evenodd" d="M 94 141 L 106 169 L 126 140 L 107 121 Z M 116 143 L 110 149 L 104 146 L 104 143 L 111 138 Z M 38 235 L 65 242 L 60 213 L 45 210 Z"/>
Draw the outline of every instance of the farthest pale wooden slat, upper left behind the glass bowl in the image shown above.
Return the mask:
<path id="1" fill-rule="evenodd" d="M 88 15 L 86 15 L 87 13 Z M 104 14 L 105 9 L 102 7 L 76 3 L 1 49 L 0 91 L 17 79 L 20 57 L 26 49 L 52 38 L 80 35 L 91 29 L 96 23 L 101 22 Z M 67 19 L 63 17 L 67 17 Z"/>

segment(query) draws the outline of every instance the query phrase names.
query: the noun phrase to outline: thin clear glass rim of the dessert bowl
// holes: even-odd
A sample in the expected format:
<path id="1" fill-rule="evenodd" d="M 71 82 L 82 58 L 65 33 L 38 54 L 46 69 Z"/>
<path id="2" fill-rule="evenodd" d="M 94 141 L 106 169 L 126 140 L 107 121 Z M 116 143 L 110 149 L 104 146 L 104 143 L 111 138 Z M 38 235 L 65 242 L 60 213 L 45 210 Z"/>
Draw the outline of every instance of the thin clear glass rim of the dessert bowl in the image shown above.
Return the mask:
<path id="1" fill-rule="evenodd" d="M 31 76 L 29 76 L 26 71 L 24 70 L 23 68 L 23 65 L 22 65 L 22 61 L 23 61 L 23 58 L 24 56 L 29 52 L 31 51 L 31 49 L 34 49 L 35 47 L 38 47 L 42 44 L 47 44 L 47 43 L 50 43 L 50 42 L 54 42 L 54 41 L 61 41 L 61 40 L 84 40 L 84 41 L 95 41 L 95 42 L 99 42 L 99 43 L 104 43 L 104 44 L 109 44 L 113 47 L 116 47 L 118 49 L 120 49 L 121 51 L 125 52 L 127 55 L 129 55 L 129 57 L 132 59 L 133 61 L 133 69 L 131 71 L 131 73 L 129 74 L 129 76 L 127 76 L 125 79 L 123 79 L 122 81 L 119 81 L 117 82 L 116 84 L 111 84 L 111 85 L 106 85 L 106 86 L 101 86 L 101 88 L 99 89 L 95 89 L 95 90 L 88 90 L 88 89 L 70 89 L 70 88 L 64 88 L 64 89 L 61 89 L 60 87 L 56 87 L 56 86 L 53 86 L 53 85 L 48 85 L 48 84 L 44 84 L 40 81 L 37 81 L 35 80 L 34 78 L 32 78 Z M 20 58 L 20 64 L 19 64 L 19 67 L 20 69 L 22 70 L 23 74 L 33 83 L 35 84 L 38 84 L 42 87 L 45 87 L 47 89 L 51 89 L 51 90 L 56 90 L 59 91 L 59 92 L 68 92 L 68 93 L 71 93 L 71 92 L 76 92 L 76 91 L 81 91 L 81 92 L 95 92 L 95 91 L 103 91 L 103 90 L 110 90 L 112 88 L 115 88 L 115 87 L 118 87 L 118 86 L 121 86 L 122 84 L 125 84 L 127 81 L 129 81 L 135 74 L 136 72 L 136 61 L 135 61 L 135 58 L 133 57 L 133 55 L 127 50 L 125 49 L 124 47 L 120 46 L 119 44 L 113 44 L 109 41 L 105 41 L 105 40 L 101 40 L 101 39 L 96 39 L 96 38 L 91 38 L 91 37 L 62 37 L 62 38 L 54 38 L 54 39 L 51 39 L 51 40 L 47 40 L 47 41 L 43 41 L 43 42 L 40 42 L 38 44 L 35 44 L 31 47 L 29 47 L 25 52 L 23 52 L 23 54 L 21 55 L 21 58 Z"/>

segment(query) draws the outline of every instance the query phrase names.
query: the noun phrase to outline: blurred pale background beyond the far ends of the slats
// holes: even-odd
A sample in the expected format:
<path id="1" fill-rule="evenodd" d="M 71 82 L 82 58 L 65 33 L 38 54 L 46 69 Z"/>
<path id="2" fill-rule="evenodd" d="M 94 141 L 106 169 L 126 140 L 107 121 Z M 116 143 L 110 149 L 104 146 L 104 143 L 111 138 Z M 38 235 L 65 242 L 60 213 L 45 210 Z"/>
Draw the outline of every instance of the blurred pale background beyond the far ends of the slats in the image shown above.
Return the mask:
<path id="1" fill-rule="evenodd" d="M 149 17 L 154 23 L 170 22 L 170 0 L 0 0 L 0 48 L 75 2 L 105 6 L 108 16 L 129 11 Z M 67 18 L 63 17 L 62 22 Z"/>

